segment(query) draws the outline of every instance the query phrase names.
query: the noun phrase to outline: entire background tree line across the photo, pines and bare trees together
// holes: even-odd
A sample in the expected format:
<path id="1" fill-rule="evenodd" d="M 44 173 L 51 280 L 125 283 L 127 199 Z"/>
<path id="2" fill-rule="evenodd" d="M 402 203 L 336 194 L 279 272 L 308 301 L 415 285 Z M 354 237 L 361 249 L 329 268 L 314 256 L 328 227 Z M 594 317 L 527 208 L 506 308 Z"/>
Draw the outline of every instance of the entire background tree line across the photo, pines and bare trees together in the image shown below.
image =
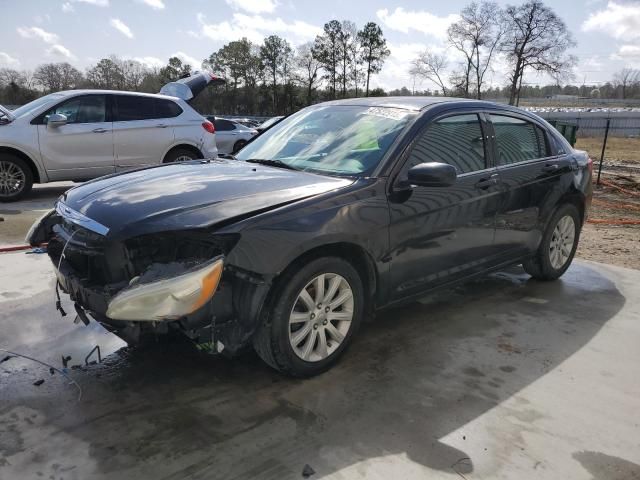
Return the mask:
<path id="1" fill-rule="evenodd" d="M 565 84 L 576 58 L 571 32 L 540 0 L 500 7 L 488 0 L 472 2 L 447 30 L 444 49 L 427 49 L 408 71 L 414 88 L 385 92 L 371 88 L 389 56 L 382 29 L 369 22 L 361 29 L 348 20 L 324 24 L 314 41 L 294 46 L 271 35 L 261 43 L 246 38 L 231 41 L 201 65 L 172 57 L 163 67 L 115 55 L 99 60 L 84 72 L 69 63 L 47 63 L 34 71 L 0 68 L 0 104 L 21 105 L 38 96 L 73 88 L 101 88 L 156 93 L 162 85 L 201 68 L 227 79 L 207 89 L 193 102 L 202 113 L 279 115 L 324 100 L 381 95 L 446 95 L 467 98 L 507 98 L 554 94 L 601 98 L 640 98 L 640 71 L 625 68 L 604 85 Z M 455 55 L 454 55 L 455 53 Z M 506 82 L 488 85 L 497 63 L 506 65 Z M 555 83 L 524 82 L 530 72 L 550 75 Z M 415 90 L 426 80 L 432 89 Z"/>

